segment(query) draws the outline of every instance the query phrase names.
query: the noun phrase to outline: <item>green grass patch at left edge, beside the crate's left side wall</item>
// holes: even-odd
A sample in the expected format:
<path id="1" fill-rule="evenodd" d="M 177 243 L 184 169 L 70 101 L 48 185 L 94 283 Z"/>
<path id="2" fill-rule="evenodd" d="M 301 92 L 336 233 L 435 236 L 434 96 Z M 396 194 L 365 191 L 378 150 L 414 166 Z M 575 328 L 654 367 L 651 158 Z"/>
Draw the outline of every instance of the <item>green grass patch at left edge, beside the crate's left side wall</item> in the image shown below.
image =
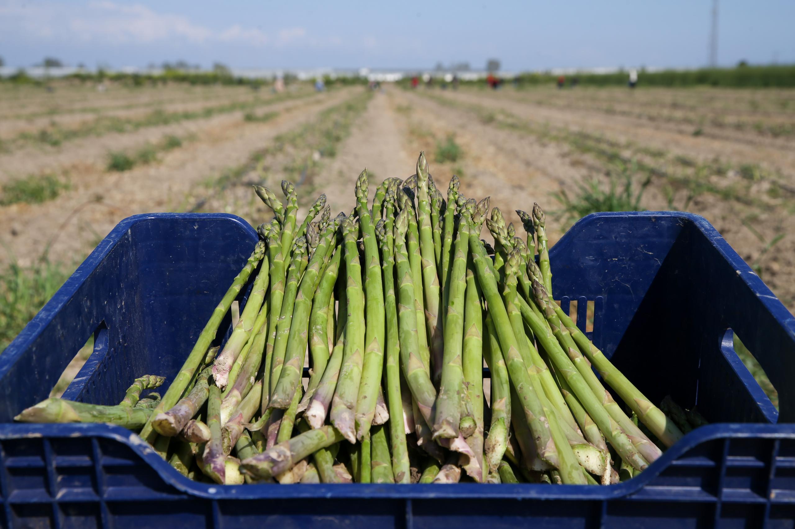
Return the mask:
<path id="1" fill-rule="evenodd" d="M 0 271 L 0 351 L 67 280 L 71 270 L 42 260 L 31 266 L 11 263 Z"/>

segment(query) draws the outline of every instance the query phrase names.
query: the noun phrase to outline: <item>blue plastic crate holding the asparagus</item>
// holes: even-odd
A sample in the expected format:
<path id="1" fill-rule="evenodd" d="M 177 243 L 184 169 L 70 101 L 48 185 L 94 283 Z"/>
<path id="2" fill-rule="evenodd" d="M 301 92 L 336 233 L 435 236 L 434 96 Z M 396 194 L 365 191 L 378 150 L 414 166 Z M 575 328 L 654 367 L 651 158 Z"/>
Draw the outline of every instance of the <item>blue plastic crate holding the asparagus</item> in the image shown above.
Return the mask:
<path id="1" fill-rule="evenodd" d="M 795 322 L 692 214 L 593 214 L 551 251 L 556 297 L 578 301 L 581 326 L 594 302 L 592 337 L 619 369 L 713 423 L 619 485 L 206 485 L 120 427 L 10 423 L 91 334 L 69 398 L 114 404 L 147 373 L 169 384 L 256 239 L 225 214 L 128 218 L 0 355 L 5 527 L 793 527 L 795 426 L 777 423 L 795 415 Z"/>

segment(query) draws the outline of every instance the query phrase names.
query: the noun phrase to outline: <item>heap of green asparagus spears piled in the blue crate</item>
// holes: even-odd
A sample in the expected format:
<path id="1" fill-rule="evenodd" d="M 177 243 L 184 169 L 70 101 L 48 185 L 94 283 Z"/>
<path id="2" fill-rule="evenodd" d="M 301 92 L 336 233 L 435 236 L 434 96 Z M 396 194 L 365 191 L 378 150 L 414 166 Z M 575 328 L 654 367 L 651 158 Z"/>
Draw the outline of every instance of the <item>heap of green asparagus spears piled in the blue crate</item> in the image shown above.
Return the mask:
<path id="1" fill-rule="evenodd" d="M 221 484 L 608 485 L 704 423 L 670 399 L 666 417 L 552 301 L 537 204 L 517 211 L 522 239 L 456 176 L 445 199 L 423 154 L 372 203 L 362 172 L 348 215 L 320 195 L 298 225 L 281 188 L 286 203 L 255 188 L 275 216 L 162 397 L 139 400 L 162 383 L 144 376 L 118 406 L 50 399 L 17 420 L 140 429 L 180 473 Z"/>

